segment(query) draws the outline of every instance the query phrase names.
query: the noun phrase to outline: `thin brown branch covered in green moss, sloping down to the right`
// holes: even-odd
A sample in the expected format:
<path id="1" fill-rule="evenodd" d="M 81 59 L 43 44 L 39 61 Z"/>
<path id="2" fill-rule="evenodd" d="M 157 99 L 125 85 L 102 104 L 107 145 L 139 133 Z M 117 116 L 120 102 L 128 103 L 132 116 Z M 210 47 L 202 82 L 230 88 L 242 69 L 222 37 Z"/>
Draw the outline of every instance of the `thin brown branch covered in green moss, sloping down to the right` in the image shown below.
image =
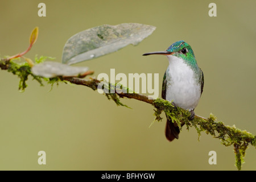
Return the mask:
<path id="1" fill-rule="evenodd" d="M 40 57 L 40 59 L 36 60 L 38 62 L 43 61 L 47 57 Z M 43 85 L 43 80 L 47 81 L 49 84 L 53 85 L 58 82 L 70 82 L 72 84 L 76 85 L 84 85 L 88 86 L 89 88 L 93 90 L 98 89 L 98 85 L 102 82 L 102 80 L 97 80 L 96 78 L 89 78 L 88 80 L 79 78 L 79 77 L 53 77 L 53 78 L 44 78 L 40 76 L 36 76 L 31 72 L 31 65 L 28 63 L 22 63 L 18 64 L 15 63 L 13 60 L 9 59 L 1 59 L 0 60 L 0 68 L 3 70 L 7 70 L 14 75 L 17 75 L 20 78 L 19 82 L 19 90 L 24 90 L 27 85 L 26 81 L 28 79 L 28 76 L 31 75 L 32 78 L 39 82 L 40 85 Z M 93 72 L 88 72 L 86 75 L 90 75 Z M 129 92 L 122 92 L 122 90 L 114 89 L 114 93 L 110 93 L 110 89 L 113 90 L 113 87 L 115 85 L 112 85 L 108 82 L 105 82 L 105 85 L 109 86 L 103 86 L 104 92 L 106 93 L 106 96 L 108 99 L 114 100 L 114 102 L 117 105 L 123 105 L 119 98 L 133 98 L 135 100 L 143 101 L 148 104 L 151 104 L 155 107 L 155 121 L 162 121 L 162 118 L 160 117 L 160 114 L 162 111 L 166 113 L 167 117 L 170 117 L 172 121 L 176 121 L 179 123 L 179 121 L 184 121 L 185 125 L 187 126 L 187 129 L 189 127 L 195 127 L 197 130 L 197 133 L 199 134 L 199 137 L 201 135 L 201 132 L 204 131 L 207 134 L 212 135 L 214 138 L 218 138 L 221 140 L 221 143 L 225 146 L 234 146 L 234 153 L 236 154 L 236 166 L 238 170 L 241 170 L 241 165 L 243 163 L 243 158 L 245 157 L 245 151 L 249 144 L 256 147 L 256 137 L 255 135 L 247 132 L 246 130 L 240 130 L 237 129 L 235 126 L 226 126 L 221 121 L 216 121 L 217 118 L 210 114 L 208 118 L 200 117 L 199 115 L 195 115 L 195 118 L 192 121 L 188 120 L 188 117 L 190 116 L 190 112 L 187 110 L 184 110 L 180 107 L 177 107 L 177 109 L 174 109 L 174 106 L 171 104 L 171 102 L 163 100 L 163 99 L 156 99 L 153 100 L 152 98 L 149 98 L 147 96 L 143 96 L 142 94 L 138 93 L 129 93 Z M 129 90 L 128 88 L 126 91 Z M 181 127 L 180 127 L 181 128 Z"/>

